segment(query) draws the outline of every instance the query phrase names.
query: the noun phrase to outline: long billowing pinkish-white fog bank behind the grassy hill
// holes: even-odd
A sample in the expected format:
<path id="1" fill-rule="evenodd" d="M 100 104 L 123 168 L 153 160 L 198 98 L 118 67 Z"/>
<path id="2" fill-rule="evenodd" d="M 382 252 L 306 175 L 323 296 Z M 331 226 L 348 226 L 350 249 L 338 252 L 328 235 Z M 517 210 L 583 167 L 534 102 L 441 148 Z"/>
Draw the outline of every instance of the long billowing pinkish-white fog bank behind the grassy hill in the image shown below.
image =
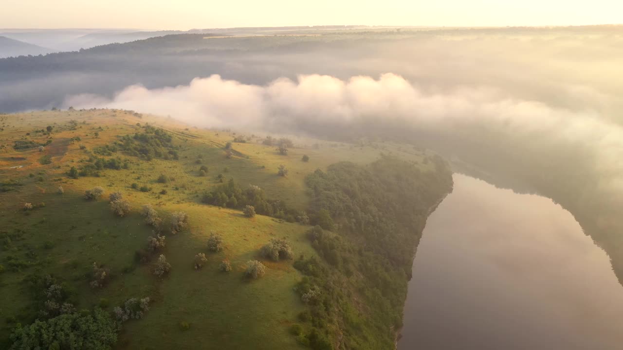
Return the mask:
<path id="1" fill-rule="evenodd" d="M 191 125 L 323 136 L 326 130 L 360 130 L 367 135 L 405 131 L 460 135 L 486 133 L 540 144 L 581 144 L 596 155 L 597 169 L 621 188 L 623 130 L 597 111 L 569 110 L 508 97 L 494 87 L 455 87 L 430 93 L 399 75 L 327 75 L 278 78 L 266 85 L 195 78 L 189 85 L 147 89 L 126 87 L 111 98 L 68 97 L 65 107 L 123 108 L 170 115 Z M 371 129 L 371 130 L 369 130 Z M 361 135 L 364 136 L 364 135 Z M 473 135 L 477 136 L 477 135 Z M 480 135 L 483 138 L 485 135 Z"/>

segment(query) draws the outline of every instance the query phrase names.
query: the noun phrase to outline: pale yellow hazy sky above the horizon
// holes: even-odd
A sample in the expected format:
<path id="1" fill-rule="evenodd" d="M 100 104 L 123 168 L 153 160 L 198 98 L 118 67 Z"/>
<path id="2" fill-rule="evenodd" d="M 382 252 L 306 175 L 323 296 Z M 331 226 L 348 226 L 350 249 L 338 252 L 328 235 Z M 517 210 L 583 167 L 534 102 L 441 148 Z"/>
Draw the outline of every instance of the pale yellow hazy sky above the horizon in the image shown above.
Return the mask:
<path id="1" fill-rule="evenodd" d="M 2 0 L 3 28 L 621 24 L 621 0 Z"/>

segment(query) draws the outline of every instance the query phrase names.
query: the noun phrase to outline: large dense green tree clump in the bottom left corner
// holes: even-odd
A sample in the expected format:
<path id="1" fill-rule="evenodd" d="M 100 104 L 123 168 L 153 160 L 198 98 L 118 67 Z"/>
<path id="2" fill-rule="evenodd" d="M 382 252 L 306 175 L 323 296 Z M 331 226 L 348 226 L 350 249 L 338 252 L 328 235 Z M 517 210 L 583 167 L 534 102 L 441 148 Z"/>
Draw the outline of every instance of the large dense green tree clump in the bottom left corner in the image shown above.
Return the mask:
<path id="1" fill-rule="evenodd" d="M 110 350 L 117 343 L 117 323 L 100 308 L 92 313 L 65 313 L 29 326 L 17 326 L 10 350 Z"/>

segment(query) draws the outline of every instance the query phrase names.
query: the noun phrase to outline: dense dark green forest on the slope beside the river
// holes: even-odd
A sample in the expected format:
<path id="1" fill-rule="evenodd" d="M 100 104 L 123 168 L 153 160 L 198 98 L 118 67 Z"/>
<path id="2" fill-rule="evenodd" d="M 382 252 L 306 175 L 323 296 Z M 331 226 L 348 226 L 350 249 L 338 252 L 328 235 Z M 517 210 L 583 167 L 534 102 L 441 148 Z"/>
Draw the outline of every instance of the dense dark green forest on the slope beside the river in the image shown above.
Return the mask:
<path id="1" fill-rule="evenodd" d="M 313 193 L 308 239 L 330 265 L 300 257 L 297 287 L 313 325 L 299 338 L 313 349 L 389 349 L 402 326 L 414 250 L 429 212 L 452 191 L 441 158 L 435 172 L 385 157 L 369 166 L 337 163 L 307 176 Z"/>

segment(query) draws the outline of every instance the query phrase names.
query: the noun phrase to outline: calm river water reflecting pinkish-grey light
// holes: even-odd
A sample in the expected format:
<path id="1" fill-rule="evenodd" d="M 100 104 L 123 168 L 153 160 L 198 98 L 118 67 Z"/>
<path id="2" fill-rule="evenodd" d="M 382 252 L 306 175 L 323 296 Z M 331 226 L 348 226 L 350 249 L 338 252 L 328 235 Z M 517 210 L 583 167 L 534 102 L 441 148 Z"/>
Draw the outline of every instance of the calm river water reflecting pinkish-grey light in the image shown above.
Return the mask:
<path id="1" fill-rule="evenodd" d="M 623 349 L 623 287 L 567 210 L 455 174 L 417 247 L 398 349 Z"/>

